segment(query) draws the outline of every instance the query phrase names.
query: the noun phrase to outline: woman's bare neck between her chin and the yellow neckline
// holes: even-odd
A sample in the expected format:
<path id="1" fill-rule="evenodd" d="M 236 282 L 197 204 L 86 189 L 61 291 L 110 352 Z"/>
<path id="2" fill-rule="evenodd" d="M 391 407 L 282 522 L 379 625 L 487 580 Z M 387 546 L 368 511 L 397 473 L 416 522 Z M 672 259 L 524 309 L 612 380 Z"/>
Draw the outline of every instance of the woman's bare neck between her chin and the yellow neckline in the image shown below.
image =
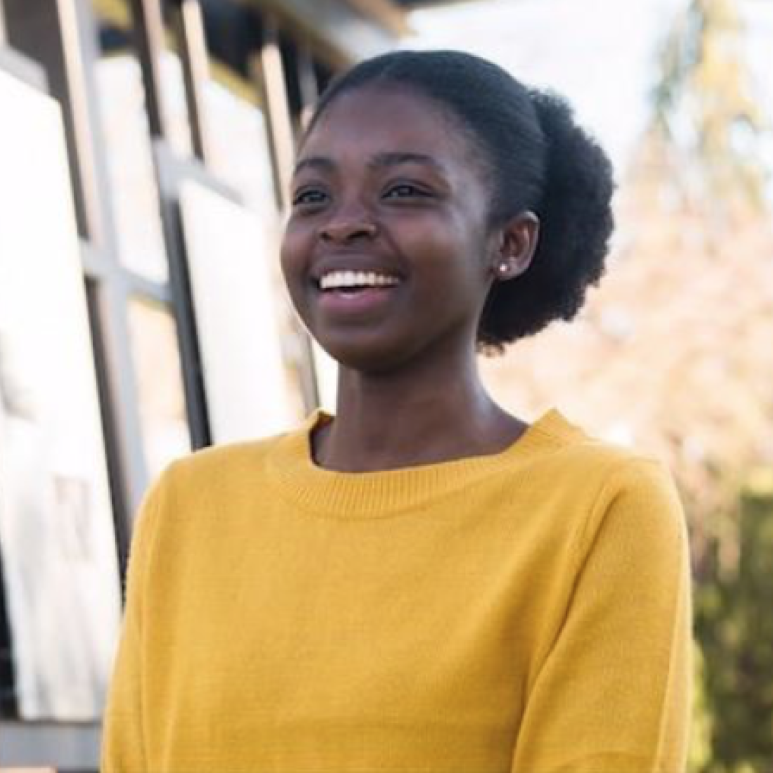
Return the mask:
<path id="1" fill-rule="evenodd" d="M 342 367 L 335 421 L 312 441 L 318 465 L 373 472 L 499 453 L 524 431 L 489 396 L 472 358 L 446 373 Z"/>

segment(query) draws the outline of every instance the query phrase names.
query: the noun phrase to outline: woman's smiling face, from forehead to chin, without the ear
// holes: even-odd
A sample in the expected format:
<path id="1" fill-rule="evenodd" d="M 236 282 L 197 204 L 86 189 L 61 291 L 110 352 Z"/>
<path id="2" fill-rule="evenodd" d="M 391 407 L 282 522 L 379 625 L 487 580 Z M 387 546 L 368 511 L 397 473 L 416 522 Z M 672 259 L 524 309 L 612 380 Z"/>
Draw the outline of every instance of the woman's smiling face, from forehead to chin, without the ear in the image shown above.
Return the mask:
<path id="1" fill-rule="evenodd" d="M 489 188 L 464 132 L 396 87 L 337 97 L 301 148 L 281 250 L 309 332 L 362 371 L 474 346 Z"/>

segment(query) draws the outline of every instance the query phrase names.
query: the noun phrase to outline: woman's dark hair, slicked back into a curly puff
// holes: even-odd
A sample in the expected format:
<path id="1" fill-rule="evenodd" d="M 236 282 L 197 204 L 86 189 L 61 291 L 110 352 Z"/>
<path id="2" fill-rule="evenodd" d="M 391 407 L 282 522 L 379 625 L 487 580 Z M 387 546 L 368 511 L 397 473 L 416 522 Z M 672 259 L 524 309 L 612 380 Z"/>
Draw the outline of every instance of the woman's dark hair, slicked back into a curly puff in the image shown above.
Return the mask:
<path id="1" fill-rule="evenodd" d="M 567 102 L 529 88 L 501 67 L 459 51 L 397 51 L 354 66 L 329 84 L 306 134 L 341 94 L 399 84 L 451 114 L 482 156 L 492 184 L 490 222 L 525 210 L 540 237 L 525 274 L 492 286 L 478 325 L 478 349 L 506 344 L 570 320 L 604 272 L 614 227 L 611 164 L 574 122 Z"/>

